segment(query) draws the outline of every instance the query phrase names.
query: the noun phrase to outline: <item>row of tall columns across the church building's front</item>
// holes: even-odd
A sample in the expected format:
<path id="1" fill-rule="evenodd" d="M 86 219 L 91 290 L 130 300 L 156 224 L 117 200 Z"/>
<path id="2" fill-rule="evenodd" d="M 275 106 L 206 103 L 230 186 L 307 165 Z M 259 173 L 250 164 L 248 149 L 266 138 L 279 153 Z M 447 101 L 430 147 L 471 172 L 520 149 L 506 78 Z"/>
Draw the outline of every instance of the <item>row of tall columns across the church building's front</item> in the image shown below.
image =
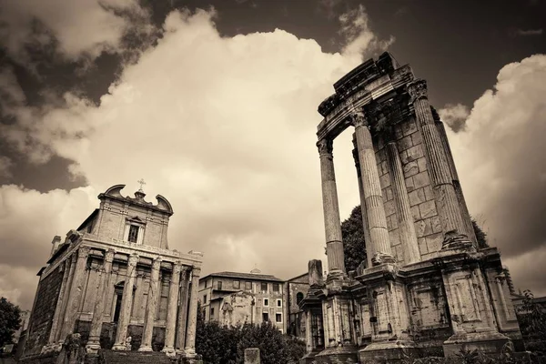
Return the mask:
<path id="1" fill-rule="evenodd" d="M 65 272 L 61 283 L 56 312 L 50 332 L 50 343 L 62 343 L 68 334 L 73 333 L 78 308 L 82 295 L 85 293 L 86 265 L 90 248 L 78 248 L 76 253 L 65 260 Z M 102 267 L 97 271 L 98 296 L 93 309 L 93 319 L 86 344 L 88 352 L 100 349 L 100 334 L 105 318 L 107 289 L 115 251 L 108 249 L 105 252 Z M 140 351 L 152 351 L 154 322 L 156 319 L 157 304 L 161 296 L 159 273 L 161 258 L 154 259 L 151 267 L 150 286 L 148 290 L 147 308 L 145 313 L 144 331 Z M 127 328 L 130 322 L 133 306 L 133 287 L 136 281 L 136 265 L 138 256 L 129 256 L 126 268 L 126 281 L 121 299 L 121 308 L 116 329 L 116 341 L 113 349 L 126 350 Z M 173 263 L 172 276 L 169 282 L 167 303 L 167 325 L 165 346 L 163 351 L 173 354 L 184 351 L 187 356 L 195 355 L 195 331 L 197 328 L 197 289 L 200 268 L 184 266 L 180 261 Z M 188 292 L 191 274 L 191 292 Z M 182 279 L 180 276 L 182 275 Z M 189 294 L 189 296 L 188 296 Z M 189 310 L 188 310 L 189 298 Z M 187 315 L 189 313 L 189 316 Z M 186 325 L 187 323 L 187 325 Z"/>

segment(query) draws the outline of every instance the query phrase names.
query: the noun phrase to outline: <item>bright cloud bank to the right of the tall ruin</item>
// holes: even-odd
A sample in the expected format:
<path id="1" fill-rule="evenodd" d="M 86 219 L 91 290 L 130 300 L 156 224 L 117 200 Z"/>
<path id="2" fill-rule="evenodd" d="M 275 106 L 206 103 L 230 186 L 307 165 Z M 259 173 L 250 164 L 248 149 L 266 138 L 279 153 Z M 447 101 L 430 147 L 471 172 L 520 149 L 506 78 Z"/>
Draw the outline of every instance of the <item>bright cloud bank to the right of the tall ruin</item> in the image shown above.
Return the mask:
<path id="1" fill-rule="evenodd" d="M 544 94 L 545 55 L 503 66 L 494 88 L 474 102 L 465 128 L 456 134 L 449 130 L 470 213 L 486 220 L 490 244 L 501 249 L 505 262 L 513 262 L 516 284 L 541 294 L 546 294 L 543 272 L 524 262 L 531 251 L 540 261 L 546 249 Z"/>

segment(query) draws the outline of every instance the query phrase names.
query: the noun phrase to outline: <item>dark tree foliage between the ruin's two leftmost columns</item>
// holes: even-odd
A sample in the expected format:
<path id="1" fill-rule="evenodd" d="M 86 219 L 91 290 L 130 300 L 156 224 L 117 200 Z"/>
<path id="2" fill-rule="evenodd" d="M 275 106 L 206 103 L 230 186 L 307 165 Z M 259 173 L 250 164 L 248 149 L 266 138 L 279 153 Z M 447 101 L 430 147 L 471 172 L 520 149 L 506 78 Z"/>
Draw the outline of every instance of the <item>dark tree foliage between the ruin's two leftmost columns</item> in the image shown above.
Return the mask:
<path id="1" fill-rule="evenodd" d="M 345 253 L 345 268 L 348 272 L 356 270 L 360 262 L 367 259 L 360 206 L 354 207 L 349 218 L 341 223 L 341 235 L 343 237 L 343 252 Z"/>

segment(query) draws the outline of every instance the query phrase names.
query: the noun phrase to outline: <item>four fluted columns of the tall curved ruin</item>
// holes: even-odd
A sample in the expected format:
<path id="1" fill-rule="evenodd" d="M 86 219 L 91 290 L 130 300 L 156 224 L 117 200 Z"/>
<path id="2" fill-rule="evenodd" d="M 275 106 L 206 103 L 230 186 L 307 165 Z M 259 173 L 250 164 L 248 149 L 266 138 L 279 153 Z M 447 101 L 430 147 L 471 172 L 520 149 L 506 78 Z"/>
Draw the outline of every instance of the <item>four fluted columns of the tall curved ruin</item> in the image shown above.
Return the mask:
<path id="1" fill-rule="evenodd" d="M 460 197 L 453 185 L 447 140 L 442 140 L 440 130 L 435 126 L 427 97 L 426 81 L 416 80 L 408 85 L 408 92 L 415 109 L 415 115 L 429 166 L 432 189 L 435 193 L 439 215 L 444 233 L 469 234 L 468 211 L 461 211 Z M 369 131 L 369 119 L 361 109 L 353 109 L 349 120 L 355 127 L 353 143 L 355 165 L 359 174 L 360 207 L 362 223 L 368 249 L 368 267 L 395 261 L 392 255 L 387 218 L 383 206 L 377 160 Z M 333 162 L 333 140 L 324 138 L 317 143 L 320 156 L 322 181 L 322 201 L 324 210 L 325 234 L 329 270 L 342 270 L 343 243 L 339 202 Z M 449 146 L 448 146 L 449 147 Z M 399 231 L 404 260 L 407 264 L 420 261 L 420 250 L 410 209 L 404 173 L 396 140 L 391 137 L 386 144 L 386 156 L 391 173 L 394 203 L 399 217 Z M 452 163 L 451 163 L 452 164 Z M 469 220 L 469 221 L 466 221 Z"/>

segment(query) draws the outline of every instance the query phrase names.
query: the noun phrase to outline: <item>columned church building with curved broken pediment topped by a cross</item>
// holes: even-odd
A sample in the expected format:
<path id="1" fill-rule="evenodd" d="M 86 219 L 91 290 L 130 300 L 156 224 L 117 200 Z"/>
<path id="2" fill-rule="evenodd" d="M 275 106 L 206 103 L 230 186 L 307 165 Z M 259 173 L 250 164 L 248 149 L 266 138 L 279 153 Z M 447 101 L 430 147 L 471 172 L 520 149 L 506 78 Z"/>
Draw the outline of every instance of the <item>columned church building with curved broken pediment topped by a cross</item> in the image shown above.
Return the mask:
<path id="1" fill-rule="evenodd" d="M 197 288 L 202 254 L 168 248 L 173 209 L 157 195 L 125 185 L 98 196 L 97 208 L 64 241 L 54 238 L 28 325 L 23 360 L 59 351 L 81 335 L 99 349 L 163 351 L 196 356 Z"/>

